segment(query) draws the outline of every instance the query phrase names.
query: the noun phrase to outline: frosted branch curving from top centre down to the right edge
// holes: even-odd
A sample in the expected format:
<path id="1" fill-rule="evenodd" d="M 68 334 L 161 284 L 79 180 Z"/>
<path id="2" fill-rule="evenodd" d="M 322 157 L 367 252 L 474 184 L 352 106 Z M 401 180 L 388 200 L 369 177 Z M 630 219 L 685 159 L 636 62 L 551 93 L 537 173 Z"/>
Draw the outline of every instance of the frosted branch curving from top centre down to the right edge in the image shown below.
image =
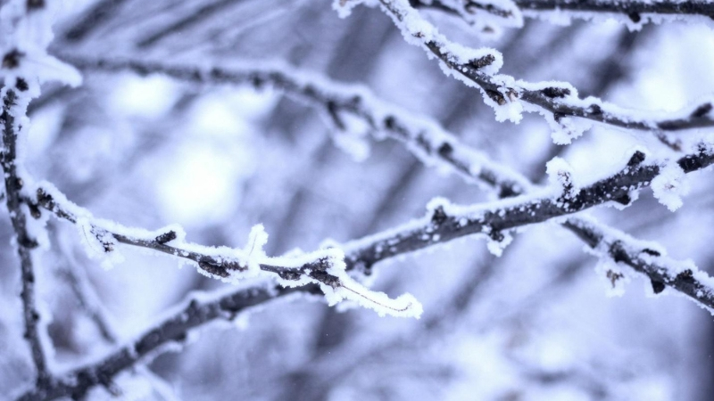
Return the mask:
<path id="1" fill-rule="evenodd" d="M 346 16 L 360 3 L 336 1 L 335 8 L 341 16 Z M 693 110 L 665 116 L 622 109 L 594 97 L 580 99 L 577 89 L 567 83 L 529 83 L 497 74 L 503 64 L 501 53 L 453 43 L 424 20 L 407 0 L 381 0 L 379 4 L 401 29 L 407 42 L 419 45 L 442 61 L 446 75 L 468 86 L 477 86 L 486 103 L 494 108 L 497 120 L 519 122 L 524 111 L 538 112 L 551 125 L 555 143 L 570 143 L 589 129 L 592 122 L 653 133 L 714 127 L 712 102 L 702 102 Z"/>

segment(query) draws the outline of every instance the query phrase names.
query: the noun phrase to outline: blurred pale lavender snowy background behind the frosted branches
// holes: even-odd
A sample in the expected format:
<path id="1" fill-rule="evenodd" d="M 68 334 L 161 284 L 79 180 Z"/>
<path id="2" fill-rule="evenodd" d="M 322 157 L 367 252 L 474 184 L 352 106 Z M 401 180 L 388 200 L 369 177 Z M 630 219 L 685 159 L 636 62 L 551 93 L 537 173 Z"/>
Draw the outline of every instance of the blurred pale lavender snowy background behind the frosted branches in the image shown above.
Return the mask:
<path id="1" fill-rule="evenodd" d="M 404 42 L 378 9 L 341 20 L 327 0 L 101 0 L 65 2 L 51 53 L 232 62 L 282 61 L 436 119 L 493 160 L 544 184 L 560 156 L 582 176 L 621 166 L 632 148 L 671 152 L 652 137 L 596 127 L 552 144 L 538 115 L 498 123 L 481 94 L 447 78 Z M 425 11 L 453 41 L 503 53 L 502 73 L 561 80 L 642 110 L 679 110 L 714 88 L 714 35 L 682 22 L 638 31 L 608 20 L 522 29 L 474 29 Z M 269 255 L 315 250 L 421 217 L 436 196 L 471 204 L 495 194 L 428 168 L 394 141 L 369 158 L 333 143 L 319 110 L 272 90 L 180 82 L 159 75 L 87 71 L 76 89 L 47 85 L 30 104 L 27 168 L 71 201 L 124 225 L 183 225 L 187 240 L 243 247 L 252 225 Z M 703 135 L 697 131 L 685 135 Z M 673 156 L 674 157 L 674 156 Z M 714 266 L 711 172 L 689 177 L 676 213 L 641 192 L 625 210 L 591 214 L 673 258 Z M 191 291 L 227 286 L 172 258 L 123 249 L 105 270 L 87 258 L 77 229 L 52 219 L 52 249 L 38 262 L 38 298 L 54 344 L 55 372 L 104 356 L 152 327 Z M 0 222 L 10 243 L 12 227 Z M 558 225 L 530 227 L 496 258 L 465 239 L 378 265 L 374 287 L 411 292 L 419 321 L 338 312 L 320 302 L 267 304 L 234 323 L 212 323 L 187 346 L 117 378 L 119 396 L 90 399 L 256 400 L 708 400 L 714 318 L 633 274 L 621 297 L 595 273 L 598 260 Z M 12 247 L 0 260 L 0 394 L 32 380 L 22 339 L 20 278 Z M 175 352 L 174 352 L 175 351 Z"/>

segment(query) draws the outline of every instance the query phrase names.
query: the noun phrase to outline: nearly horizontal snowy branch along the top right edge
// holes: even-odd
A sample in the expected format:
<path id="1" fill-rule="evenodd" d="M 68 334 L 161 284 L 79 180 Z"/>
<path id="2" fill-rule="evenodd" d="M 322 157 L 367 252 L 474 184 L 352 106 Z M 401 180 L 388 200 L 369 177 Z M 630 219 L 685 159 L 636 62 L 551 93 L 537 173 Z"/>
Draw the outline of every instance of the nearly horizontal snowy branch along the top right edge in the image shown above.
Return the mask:
<path id="1" fill-rule="evenodd" d="M 597 15 L 620 14 L 634 23 L 646 22 L 651 19 L 643 14 L 667 17 L 693 17 L 701 16 L 714 19 L 714 4 L 702 1 L 594 1 L 594 0 L 512 0 L 526 16 L 537 17 L 542 12 L 572 12 L 573 18 L 592 18 Z M 492 2 L 478 2 L 474 0 L 440 1 L 440 0 L 410 0 L 413 7 L 419 9 L 432 9 L 450 13 L 461 18 L 471 16 L 477 11 L 488 12 L 496 17 L 512 18 L 513 12 Z M 645 17 L 645 18 L 643 18 Z"/>

